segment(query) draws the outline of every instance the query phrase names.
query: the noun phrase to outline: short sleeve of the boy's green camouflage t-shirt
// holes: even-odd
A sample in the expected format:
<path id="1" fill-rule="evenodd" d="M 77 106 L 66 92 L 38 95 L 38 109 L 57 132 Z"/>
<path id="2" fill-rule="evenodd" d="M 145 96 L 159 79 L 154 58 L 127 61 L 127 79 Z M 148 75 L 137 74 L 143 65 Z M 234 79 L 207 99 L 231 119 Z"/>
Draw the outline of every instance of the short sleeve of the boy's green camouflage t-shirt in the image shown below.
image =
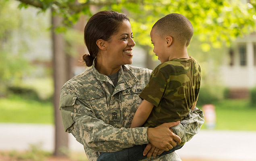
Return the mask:
<path id="1" fill-rule="evenodd" d="M 158 106 L 160 100 L 164 95 L 166 87 L 166 78 L 164 74 L 156 67 L 150 76 L 150 81 L 140 93 L 139 97 L 152 103 L 154 106 Z"/>

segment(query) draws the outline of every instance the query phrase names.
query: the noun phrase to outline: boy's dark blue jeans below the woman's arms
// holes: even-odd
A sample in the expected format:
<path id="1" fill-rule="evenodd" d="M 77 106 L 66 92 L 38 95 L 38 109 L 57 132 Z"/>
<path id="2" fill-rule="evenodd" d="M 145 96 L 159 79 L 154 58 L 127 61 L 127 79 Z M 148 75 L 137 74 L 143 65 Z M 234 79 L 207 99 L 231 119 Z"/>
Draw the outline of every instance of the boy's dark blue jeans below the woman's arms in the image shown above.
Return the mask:
<path id="1" fill-rule="evenodd" d="M 117 152 L 101 153 L 97 161 L 138 161 L 141 159 L 145 159 L 147 156 L 143 156 L 143 151 L 146 146 L 147 144 L 135 145 L 133 147 L 126 148 Z M 157 156 L 170 154 L 178 149 L 181 149 L 181 147 L 183 147 L 183 145 L 177 145 L 173 149 L 170 149 L 169 151 L 164 151 L 162 154 Z"/>

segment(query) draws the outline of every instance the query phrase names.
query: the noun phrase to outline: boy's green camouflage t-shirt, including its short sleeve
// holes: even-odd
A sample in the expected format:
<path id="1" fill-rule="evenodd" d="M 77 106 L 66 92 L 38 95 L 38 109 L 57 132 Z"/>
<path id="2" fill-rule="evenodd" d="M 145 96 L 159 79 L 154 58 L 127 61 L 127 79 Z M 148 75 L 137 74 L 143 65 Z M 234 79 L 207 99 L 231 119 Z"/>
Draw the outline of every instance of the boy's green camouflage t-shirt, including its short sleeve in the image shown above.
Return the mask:
<path id="1" fill-rule="evenodd" d="M 139 95 L 154 105 L 144 126 L 183 120 L 198 99 L 200 81 L 201 69 L 192 57 L 158 65 Z"/>

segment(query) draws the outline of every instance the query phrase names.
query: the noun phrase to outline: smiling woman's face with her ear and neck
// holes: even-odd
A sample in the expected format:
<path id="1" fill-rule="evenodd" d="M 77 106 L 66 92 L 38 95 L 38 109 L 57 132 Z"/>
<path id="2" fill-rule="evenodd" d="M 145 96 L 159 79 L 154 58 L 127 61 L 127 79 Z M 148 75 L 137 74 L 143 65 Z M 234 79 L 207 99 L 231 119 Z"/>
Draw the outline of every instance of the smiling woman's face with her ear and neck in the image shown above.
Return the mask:
<path id="1" fill-rule="evenodd" d="M 112 35 L 109 41 L 98 39 L 96 44 L 100 49 L 96 58 L 96 69 L 102 74 L 114 74 L 119 71 L 122 65 L 133 62 L 132 50 L 135 42 L 128 20 L 121 23 L 119 31 Z M 106 69 L 111 70 L 106 71 Z"/>

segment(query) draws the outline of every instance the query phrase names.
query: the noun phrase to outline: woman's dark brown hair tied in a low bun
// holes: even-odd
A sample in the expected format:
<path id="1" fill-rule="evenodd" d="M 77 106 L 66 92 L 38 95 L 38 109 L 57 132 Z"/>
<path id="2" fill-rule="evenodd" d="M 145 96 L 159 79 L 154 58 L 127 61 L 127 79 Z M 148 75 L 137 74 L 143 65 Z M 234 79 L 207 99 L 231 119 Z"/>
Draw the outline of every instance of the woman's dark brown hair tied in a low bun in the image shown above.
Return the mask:
<path id="1" fill-rule="evenodd" d="M 92 66 L 92 62 L 98 53 L 96 41 L 103 39 L 109 41 L 114 33 L 117 33 L 123 21 L 130 21 L 127 15 L 112 10 L 104 10 L 94 14 L 84 28 L 84 42 L 89 54 L 83 55 L 86 66 Z"/>

